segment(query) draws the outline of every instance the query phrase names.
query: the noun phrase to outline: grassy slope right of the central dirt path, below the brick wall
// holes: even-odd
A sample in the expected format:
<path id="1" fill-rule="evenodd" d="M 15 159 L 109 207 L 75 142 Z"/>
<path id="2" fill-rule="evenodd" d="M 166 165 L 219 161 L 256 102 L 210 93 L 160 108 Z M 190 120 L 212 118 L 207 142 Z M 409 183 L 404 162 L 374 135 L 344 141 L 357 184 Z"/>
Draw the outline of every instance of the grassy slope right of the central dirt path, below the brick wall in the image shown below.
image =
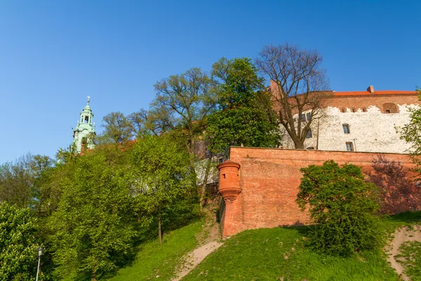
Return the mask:
<path id="1" fill-rule="evenodd" d="M 391 231 L 420 221 L 421 212 L 417 212 L 389 218 L 385 227 Z M 303 247 L 304 231 L 305 228 L 271 228 L 235 235 L 183 281 L 279 280 L 281 277 L 300 281 L 396 280 L 396 273 L 380 251 L 366 251 L 347 259 L 315 254 Z"/>

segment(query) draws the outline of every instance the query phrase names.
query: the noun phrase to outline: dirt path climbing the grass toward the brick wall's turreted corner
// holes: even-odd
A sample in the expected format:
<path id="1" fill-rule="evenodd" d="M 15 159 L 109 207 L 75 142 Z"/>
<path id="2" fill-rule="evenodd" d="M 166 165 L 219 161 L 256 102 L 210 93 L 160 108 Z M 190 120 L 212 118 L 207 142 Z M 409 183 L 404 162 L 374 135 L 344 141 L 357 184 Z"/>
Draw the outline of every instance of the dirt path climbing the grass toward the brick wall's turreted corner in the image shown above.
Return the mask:
<path id="1" fill-rule="evenodd" d="M 218 249 L 221 245 L 219 223 L 215 221 L 215 215 L 211 208 L 204 210 L 206 212 L 206 222 L 203 230 L 197 237 L 199 246 L 184 256 L 182 266 L 180 266 L 175 278 L 172 281 L 181 280 L 193 268 L 195 268 L 208 254 Z"/>

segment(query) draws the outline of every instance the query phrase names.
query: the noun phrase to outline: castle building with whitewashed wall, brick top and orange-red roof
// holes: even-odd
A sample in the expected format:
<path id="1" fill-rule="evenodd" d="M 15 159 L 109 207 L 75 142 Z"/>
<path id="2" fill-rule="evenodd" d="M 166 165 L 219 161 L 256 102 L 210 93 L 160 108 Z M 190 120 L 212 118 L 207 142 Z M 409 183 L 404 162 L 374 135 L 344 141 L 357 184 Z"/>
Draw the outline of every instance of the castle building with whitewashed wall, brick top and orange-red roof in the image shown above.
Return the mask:
<path id="1" fill-rule="evenodd" d="M 276 84 L 271 83 L 272 91 Z M 397 130 L 410 121 L 410 109 L 420 106 L 416 91 L 331 91 L 319 119 L 312 120 L 305 148 L 314 150 L 408 153 L 410 145 Z M 298 115 L 295 115 L 295 119 Z M 307 122 L 311 112 L 303 112 Z M 282 128 L 283 129 L 283 128 Z M 284 133 L 284 148 L 294 148 Z"/>

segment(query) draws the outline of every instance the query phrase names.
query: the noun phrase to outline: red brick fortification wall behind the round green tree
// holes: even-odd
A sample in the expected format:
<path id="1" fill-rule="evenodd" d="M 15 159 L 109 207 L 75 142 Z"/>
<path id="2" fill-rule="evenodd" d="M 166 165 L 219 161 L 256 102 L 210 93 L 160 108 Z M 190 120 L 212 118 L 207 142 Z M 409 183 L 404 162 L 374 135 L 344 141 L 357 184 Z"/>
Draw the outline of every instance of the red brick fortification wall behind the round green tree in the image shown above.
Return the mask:
<path id="1" fill-rule="evenodd" d="M 401 162 L 406 172 L 413 167 L 408 155 L 382 155 Z M 295 203 L 302 177 L 300 168 L 333 159 L 339 164 L 361 166 L 367 173 L 374 157 L 377 153 L 231 148 L 229 159 L 241 165 L 241 193 L 236 200 L 227 200 L 222 236 L 253 228 L 308 223 L 307 212 L 301 211 Z"/>

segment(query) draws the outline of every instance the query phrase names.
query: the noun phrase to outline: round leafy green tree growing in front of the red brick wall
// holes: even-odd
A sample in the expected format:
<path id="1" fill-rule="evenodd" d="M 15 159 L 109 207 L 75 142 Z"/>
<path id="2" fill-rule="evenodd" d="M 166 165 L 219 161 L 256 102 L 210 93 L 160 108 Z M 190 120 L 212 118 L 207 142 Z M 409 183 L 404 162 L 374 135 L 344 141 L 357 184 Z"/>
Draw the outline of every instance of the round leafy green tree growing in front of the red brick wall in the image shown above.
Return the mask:
<path id="1" fill-rule="evenodd" d="M 380 192 L 364 181 L 358 166 L 327 161 L 301 171 L 297 202 L 302 210 L 308 207 L 314 223 L 308 233 L 310 247 L 347 256 L 379 245 L 382 234 L 376 212 Z"/>

